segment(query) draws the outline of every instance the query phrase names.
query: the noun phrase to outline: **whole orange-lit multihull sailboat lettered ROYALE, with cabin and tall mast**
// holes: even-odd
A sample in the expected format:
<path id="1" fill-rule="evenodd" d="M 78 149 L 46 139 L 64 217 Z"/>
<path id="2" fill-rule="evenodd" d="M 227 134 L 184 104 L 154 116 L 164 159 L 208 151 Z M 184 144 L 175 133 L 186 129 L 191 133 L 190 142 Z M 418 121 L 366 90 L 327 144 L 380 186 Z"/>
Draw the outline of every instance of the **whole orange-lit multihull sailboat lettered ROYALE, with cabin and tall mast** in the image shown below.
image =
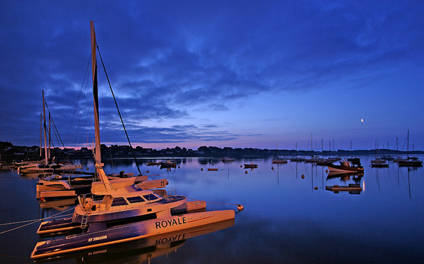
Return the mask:
<path id="1" fill-rule="evenodd" d="M 90 21 L 90 30 L 95 112 L 95 169 L 100 178 L 100 181 L 92 184 L 91 192 L 102 196 L 102 200 L 81 198 L 73 212 L 71 221 L 80 224 L 86 232 L 65 236 L 62 239 L 40 241 L 31 253 L 31 258 L 50 258 L 63 253 L 133 241 L 234 219 L 234 210 L 172 215 L 172 209 L 187 204 L 187 198 L 184 196 L 158 196 L 153 191 L 143 190 L 134 184 L 134 179 L 131 178 L 107 179 L 102 169 L 103 164 L 100 155 L 100 126 L 98 104 L 96 104 L 97 64 L 95 49 L 97 44 L 93 21 Z M 140 221 L 139 217 L 145 217 L 147 220 Z M 132 219 L 136 222 L 114 224 L 122 219 Z M 48 222 L 42 223 L 39 232 L 42 227 L 47 225 Z M 57 227 L 60 228 L 60 226 Z"/>

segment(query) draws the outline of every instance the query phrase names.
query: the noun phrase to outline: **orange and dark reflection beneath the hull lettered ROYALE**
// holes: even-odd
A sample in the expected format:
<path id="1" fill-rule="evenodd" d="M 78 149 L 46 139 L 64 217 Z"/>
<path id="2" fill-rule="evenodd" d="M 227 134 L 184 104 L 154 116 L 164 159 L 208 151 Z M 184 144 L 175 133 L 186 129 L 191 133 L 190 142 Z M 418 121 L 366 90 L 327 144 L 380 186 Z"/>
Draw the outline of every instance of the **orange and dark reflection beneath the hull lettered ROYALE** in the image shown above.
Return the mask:
<path id="1" fill-rule="evenodd" d="M 181 229 L 145 239 L 129 241 L 109 246 L 100 246 L 90 250 L 68 253 L 54 258 L 40 258 L 36 263 L 46 263 L 52 260 L 74 259 L 76 263 L 144 263 L 153 258 L 177 251 L 187 241 L 196 236 L 210 234 L 234 225 L 234 218 L 206 224 L 189 229 Z"/>

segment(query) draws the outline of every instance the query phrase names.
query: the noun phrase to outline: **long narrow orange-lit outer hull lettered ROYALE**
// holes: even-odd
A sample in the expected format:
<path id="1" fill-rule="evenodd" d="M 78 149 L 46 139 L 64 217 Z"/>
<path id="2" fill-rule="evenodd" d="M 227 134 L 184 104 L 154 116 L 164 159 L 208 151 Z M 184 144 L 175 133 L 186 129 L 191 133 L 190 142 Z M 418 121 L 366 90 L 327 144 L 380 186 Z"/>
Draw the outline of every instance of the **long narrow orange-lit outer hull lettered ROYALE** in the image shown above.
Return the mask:
<path id="1" fill-rule="evenodd" d="M 123 224 L 97 232 L 66 236 L 64 239 L 38 242 L 31 253 L 31 258 L 49 258 L 64 253 L 144 239 L 167 232 L 175 232 L 177 230 L 230 220 L 234 219 L 234 217 L 235 212 L 233 210 L 220 210 L 194 212 L 187 215 Z"/>

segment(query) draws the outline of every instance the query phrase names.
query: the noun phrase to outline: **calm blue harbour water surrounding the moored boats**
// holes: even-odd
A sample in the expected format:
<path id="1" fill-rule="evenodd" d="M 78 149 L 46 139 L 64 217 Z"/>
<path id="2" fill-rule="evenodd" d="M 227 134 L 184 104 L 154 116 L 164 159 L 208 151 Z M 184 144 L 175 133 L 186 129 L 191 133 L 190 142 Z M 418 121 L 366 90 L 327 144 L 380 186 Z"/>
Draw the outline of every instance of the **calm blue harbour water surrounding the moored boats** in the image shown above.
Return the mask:
<path id="1" fill-rule="evenodd" d="M 231 227 L 151 246 L 148 241 L 76 253 L 57 263 L 424 263 L 424 170 L 371 168 L 361 157 L 364 176 L 327 179 L 326 167 L 271 160 L 177 160 L 166 171 L 141 165 L 142 172 L 167 178 L 177 194 L 245 206 Z M 423 160 L 423 157 L 420 157 Z M 208 164 L 201 164 L 207 161 Z M 240 165 L 254 162 L 257 169 Z M 131 160 L 115 160 L 106 172 L 137 172 Z M 93 171 L 92 164 L 87 164 Z M 207 168 L 218 168 L 208 172 Z M 271 169 L 273 167 L 273 169 Z M 203 171 L 201 171 L 203 168 Z M 246 174 L 247 172 L 247 174 Z M 304 179 L 302 178 L 304 175 Z M 158 176 L 153 177 L 158 179 Z M 0 172 L 1 223 L 37 220 L 66 208 L 40 208 L 37 179 Z M 325 186 L 360 183 L 360 194 L 333 193 Z M 317 190 L 314 189 L 317 187 Z M 232 205 L 211 204 L 211 209 Z M 26 223 L 23 223 L 26 224 Z M 0 226 L 0 232 L 13 227 Z M 33 263 L 39 222 L 0 234 L 0 263 Z M 231 224 L 228 224 L 231 225 Z M 223 227 L 213 227 L 216 229 Z M 169 243 L 172 241 L 172 243 Z"/>

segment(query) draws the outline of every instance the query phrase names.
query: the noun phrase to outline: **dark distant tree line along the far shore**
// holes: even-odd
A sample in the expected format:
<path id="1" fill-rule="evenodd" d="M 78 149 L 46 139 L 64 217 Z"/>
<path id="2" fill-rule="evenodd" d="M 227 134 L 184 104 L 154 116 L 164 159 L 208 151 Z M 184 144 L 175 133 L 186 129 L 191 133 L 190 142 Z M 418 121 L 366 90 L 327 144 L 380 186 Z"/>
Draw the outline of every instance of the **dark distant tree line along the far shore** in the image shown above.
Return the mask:
<path id="1" fill-rule="evenodd" d="M 164 148 L 155 150 L 153 148 L 136 147 L 131 150 L 129 145 L 107 145 L 100 146 L 103 159 L 112 157 L 275 157 L 277 150 L 260 149 L 260 148 L 218 148 L 213 146 L 201 146 L 197 150 L 180 148 Z M 379 155 L 406 155 L 406 151 L 397 151 L 389 149 L 379 149 Z M 414 150 L 409 152 L 410 155 L 423 155 L 424 152 Z M 377 150 L 278 150 L 278 156 L 293 157 L 293 156 L 358 156 L 358 155 L 377 155 Z M 92 151 L 88 148 L 79 150 L 73 148 L 52 148 L 50 156 L 56 157 L 56 160 L 76 159 L 76 158 L 91 158 Z M 21 160 L 41 160 L 44 158 L 44 150 L 40 157 L 39 146 L 15 146 L 9 142 L 0 141 L 0 161 L 21 161 Z"/>

